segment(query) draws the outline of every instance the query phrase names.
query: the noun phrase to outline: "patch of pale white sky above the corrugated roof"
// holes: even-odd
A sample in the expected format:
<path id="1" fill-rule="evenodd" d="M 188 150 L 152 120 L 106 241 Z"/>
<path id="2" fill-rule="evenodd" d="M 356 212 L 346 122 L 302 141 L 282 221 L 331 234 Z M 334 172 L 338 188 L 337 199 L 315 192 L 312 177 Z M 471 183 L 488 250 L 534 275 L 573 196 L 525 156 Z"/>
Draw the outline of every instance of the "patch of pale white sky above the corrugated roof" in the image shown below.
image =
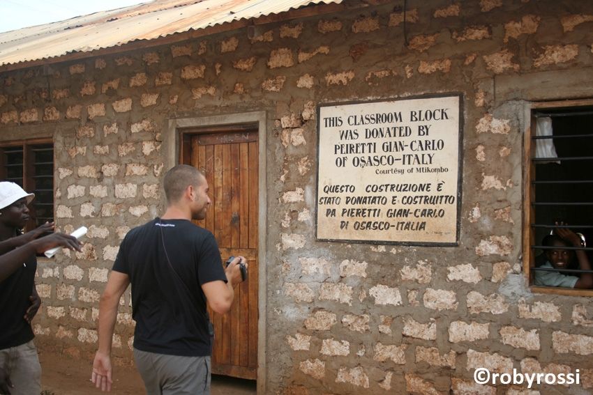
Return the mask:
<path id="1" fill-rule="evenodd" d="M 151 0 L 0 0 L 0 32 L 149 1 Z"/>

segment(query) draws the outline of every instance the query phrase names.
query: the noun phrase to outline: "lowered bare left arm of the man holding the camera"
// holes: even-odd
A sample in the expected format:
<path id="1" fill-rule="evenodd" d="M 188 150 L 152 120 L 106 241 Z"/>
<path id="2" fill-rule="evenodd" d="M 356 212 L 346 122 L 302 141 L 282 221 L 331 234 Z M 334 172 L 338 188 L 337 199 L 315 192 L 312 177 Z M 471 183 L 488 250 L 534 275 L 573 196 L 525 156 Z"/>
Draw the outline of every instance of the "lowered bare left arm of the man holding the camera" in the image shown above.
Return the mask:
<path id="1" fill-rule="evenodd" d="M 123 292 L 130 285 L 128 274 L 112 270 L 99 302 L 99 349 L 93 362 L 91 381 L 102 391 L 111 391 L 111 345 L 117 319 L 117 307 Z"/>

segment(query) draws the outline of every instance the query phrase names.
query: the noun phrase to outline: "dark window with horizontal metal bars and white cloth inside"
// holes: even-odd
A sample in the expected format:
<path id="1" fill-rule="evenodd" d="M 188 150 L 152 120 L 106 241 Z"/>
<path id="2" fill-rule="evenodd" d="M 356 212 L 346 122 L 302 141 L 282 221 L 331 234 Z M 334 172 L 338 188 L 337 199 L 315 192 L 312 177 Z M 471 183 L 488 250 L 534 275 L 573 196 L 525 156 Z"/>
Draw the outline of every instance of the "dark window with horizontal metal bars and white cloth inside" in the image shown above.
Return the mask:
<path id="1" fill-rule="evenodd" d="M 541 284 L 541 273 L 583 279 L 584 274 L 593 272 L 581 267 L 582 258 L 576 253 L 584 251 L 588 263 L 593 262 L 593 106 L 536 109 L 532 116 L 534 127 L 527 144 L 529 191 L 525 194 L 530 284 L 536 286 L 534 291 L 593 295 L 592 291 L 566 291 Z M 571 258 L 560 270 L 548 263 L 546 254 L 560 247 L 551 246 L 550 236 L 546 236 L 560 235 L 562 228 L 576 233 L 582 244 L 565 243 L 562 249 L 570 251 Z"/>

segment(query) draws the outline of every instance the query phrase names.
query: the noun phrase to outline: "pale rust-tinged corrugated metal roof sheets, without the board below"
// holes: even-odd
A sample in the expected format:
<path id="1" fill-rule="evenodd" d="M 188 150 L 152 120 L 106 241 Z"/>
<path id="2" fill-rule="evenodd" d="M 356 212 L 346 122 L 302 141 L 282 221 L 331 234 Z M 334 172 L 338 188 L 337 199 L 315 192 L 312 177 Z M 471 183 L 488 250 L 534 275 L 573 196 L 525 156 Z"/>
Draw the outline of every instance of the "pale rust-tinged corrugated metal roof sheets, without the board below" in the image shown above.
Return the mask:
<path id="1" fill-rule="evenodd" d="M 0 67 L 118 47 L 174 33 L 343 0 L 155 0 L 0 33 Z"/>

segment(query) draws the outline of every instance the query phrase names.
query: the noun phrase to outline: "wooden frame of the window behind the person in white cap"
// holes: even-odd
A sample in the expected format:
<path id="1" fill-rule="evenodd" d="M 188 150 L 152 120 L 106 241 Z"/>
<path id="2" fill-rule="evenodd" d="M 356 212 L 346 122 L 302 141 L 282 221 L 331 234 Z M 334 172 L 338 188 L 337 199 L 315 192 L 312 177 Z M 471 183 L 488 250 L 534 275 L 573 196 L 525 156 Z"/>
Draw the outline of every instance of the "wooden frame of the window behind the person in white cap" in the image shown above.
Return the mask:
<path id="1" fill-rule="evenodd" d="M 52 218 L 55 216 L 55 196 L 54 196 L 54 189 L 55 189 L 55 147 L 54 147 L 54 140 L 51 137 L 42 137 L 42 138 L 34 138 L 34 139 L 15 139 L 15 140 L 6 140 L 0 141 L 0 150 L 4 150 L 4 148 L 15 148 L 15 147 L 22 147 L 22 155 L 23 155 L 23 169 L 22 169 L 22 180 L 24 190 L 29 192 L 31 189 L 31 185 L 35 185 L 35 180 L 33 180 L 33 176 L 35 176 L 35 171 L 33 169 L 33 149 L 34 146 L 39 145 L 51 145 L 53 148 L 52 151 Z M 2 167 L 0 175 L 2 179 L 4 179 L 4 166 L 5 163 L 5 155 L 0 155 L 0 166 Z M 32 190 L 32 189 L 31 189 Z M 31 221 L 27 223 L 25 226 L 25 231 L 31 231 L 35 229 L 38 225 L 35 223 L 36 214 L 34 217 L 31 218 Z"/>

